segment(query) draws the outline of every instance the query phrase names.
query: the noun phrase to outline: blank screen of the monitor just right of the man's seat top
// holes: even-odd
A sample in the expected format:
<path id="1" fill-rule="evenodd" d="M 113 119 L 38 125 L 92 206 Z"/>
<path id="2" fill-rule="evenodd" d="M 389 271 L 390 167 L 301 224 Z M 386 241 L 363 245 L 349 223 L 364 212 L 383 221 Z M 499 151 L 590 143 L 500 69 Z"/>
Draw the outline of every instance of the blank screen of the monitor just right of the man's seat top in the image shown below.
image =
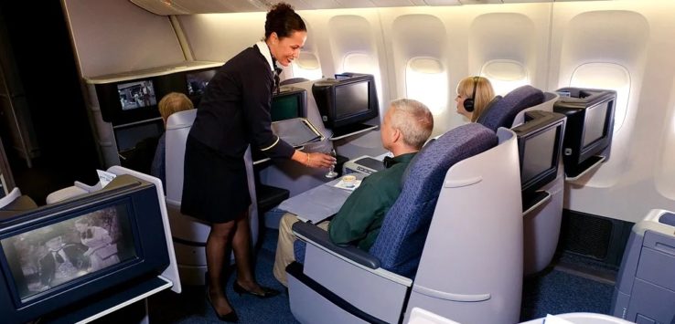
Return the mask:
<path id="1" fill-rule="evenodd" d="M 554 163 L 557 161 L 553 159 L 553 154 L 557 149 L 555 146 L 557 132 L 558 128 L 552 128 L 525 142 L 520 172 L 521 183 L 527 183 L 541 172 L 555 166 Z"/>

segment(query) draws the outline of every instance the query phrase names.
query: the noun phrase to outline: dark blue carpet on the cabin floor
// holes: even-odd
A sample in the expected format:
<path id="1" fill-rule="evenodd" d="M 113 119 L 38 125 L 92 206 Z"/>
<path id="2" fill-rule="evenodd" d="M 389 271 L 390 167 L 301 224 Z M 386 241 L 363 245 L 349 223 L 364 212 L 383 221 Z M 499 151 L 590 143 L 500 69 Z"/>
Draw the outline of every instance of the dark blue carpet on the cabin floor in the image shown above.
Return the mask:
<path id="1" fill-rule="evenodd" d="M 255 274 L 263 286 L 284 291 L 272 274 L 278 232 L 265 229 L 256 254 Z M 236 309 L 240 323 L 297 323 L 288 305 L 288 296 L 267 299 L 238 296 L 232 290 L 231 273 L 227 296 Z M 614 286 L 556 269 L 527 277 L 523 284 L 521 321 L 545 317 L 546 314 L 596 312 L 608 314 Z M 203 286 L 184 286 L 178 295 L 171 291 L 159 293 L 149 300 L 153 323 L 218 323 L 216 314 L 205 298 Z"/>

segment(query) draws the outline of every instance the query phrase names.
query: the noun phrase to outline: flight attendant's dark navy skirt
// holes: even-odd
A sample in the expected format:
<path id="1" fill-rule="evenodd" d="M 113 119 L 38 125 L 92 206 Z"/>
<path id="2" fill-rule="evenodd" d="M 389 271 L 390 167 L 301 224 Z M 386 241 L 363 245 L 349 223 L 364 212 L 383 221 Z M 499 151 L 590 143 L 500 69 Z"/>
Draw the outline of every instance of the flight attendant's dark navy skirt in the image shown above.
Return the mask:
<path id="1" fill-rule="evenodd" d="M 251 195 L 243 157 L 223 156 L 187 136 L 180 212 L 209 223 L 227 223 L 249 210 Z"/>

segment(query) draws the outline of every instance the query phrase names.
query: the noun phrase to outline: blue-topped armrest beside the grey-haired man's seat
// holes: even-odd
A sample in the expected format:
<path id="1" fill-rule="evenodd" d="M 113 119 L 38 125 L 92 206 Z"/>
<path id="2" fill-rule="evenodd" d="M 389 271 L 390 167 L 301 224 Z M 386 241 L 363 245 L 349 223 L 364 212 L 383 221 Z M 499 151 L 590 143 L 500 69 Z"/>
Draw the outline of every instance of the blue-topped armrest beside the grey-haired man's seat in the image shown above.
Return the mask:
<path id="1" fill-rule="evenodd" d="M 348 258 L 363 267 L 370 267 L 371 269 L 380 267 L 380 260 L 377 257 L 370 256 L 368 252 L 360 250 L 356 246 L 336 245 L 330 241 L 328 232 L 316 227 L 316 225 L 297 222 L 293 225 L 293 233 L 308 243 L 321 246 L 322 248 L 336 253 L 339 256 Z"/>

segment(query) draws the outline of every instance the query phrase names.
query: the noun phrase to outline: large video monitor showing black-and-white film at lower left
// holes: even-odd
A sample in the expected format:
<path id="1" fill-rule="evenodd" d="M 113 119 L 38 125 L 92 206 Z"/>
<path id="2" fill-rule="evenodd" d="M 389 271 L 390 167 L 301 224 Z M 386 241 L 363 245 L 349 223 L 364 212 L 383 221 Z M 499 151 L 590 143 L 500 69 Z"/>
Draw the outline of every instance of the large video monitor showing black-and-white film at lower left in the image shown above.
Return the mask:
<path id="1" fill-rule="evenodd" d="M 56 322 L 165 283 L 155 280 L 169 265 L 163 199 L 153 183 L 120 174 L 100 191 L 5 214 L 2 321 Z"/>

